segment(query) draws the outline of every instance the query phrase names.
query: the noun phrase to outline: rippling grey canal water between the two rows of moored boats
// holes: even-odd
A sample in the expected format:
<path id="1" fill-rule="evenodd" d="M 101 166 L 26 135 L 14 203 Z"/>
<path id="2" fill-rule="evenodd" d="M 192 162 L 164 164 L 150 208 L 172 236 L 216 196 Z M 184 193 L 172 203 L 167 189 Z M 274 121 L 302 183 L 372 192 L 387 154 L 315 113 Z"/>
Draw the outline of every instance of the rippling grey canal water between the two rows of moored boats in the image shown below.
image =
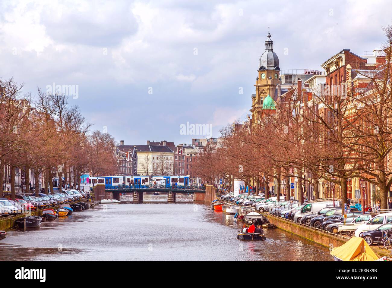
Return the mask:
<path id="1" fill-rule="evenodd" d="M 331 261 L 328 248 L 280 229 L 266 241 L 240 241 L 232 215 L 194 204 L 190 196 L 122 196 L 120 205 L 98 205 L 41 227 L 13 229 L 0 241 L 0 260 L 260 260 Z"/>

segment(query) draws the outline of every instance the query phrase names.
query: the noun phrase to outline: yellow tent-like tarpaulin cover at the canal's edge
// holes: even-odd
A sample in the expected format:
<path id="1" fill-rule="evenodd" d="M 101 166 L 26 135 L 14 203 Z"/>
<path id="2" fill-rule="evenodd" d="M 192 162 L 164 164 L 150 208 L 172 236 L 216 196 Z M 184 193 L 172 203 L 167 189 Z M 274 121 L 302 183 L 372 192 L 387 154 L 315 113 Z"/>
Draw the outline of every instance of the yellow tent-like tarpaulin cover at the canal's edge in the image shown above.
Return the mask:
<path id="1" fill-rule="evenodd" d="M 332 249 L 335 261 L 376 261 L 380 258 L 361 237 L 352 237 L 345 244 Z"/>

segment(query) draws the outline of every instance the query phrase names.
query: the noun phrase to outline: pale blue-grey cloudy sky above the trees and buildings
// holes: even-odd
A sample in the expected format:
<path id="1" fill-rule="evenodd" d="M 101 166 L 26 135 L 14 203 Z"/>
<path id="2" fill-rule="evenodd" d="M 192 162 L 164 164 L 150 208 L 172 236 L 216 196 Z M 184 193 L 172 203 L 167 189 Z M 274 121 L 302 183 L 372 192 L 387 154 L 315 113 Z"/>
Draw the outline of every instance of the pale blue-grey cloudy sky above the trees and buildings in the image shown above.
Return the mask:
<path id="1" fill-rule="evenodd" d="M 341 49 L 379 48 L 390 12 L 390 1 L 2 0 L 0 78 L 33 95 L 74 85 L 69 102 L 125 144 L 191 143 L 202 136 L 181 124 L 216 137 L 249 113 L 268 27 L 282 70 L 321 70 Z"/>

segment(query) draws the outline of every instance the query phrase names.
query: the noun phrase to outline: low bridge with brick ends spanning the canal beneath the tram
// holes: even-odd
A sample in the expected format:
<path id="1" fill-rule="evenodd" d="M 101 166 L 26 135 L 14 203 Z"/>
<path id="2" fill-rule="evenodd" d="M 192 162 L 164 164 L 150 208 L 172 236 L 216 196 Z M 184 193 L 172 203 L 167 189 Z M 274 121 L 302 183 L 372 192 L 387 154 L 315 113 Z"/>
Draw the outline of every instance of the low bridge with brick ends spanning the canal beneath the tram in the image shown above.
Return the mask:
<path id="1" fill-rule="evenodd" d="M 132 201 L 136 203 L 143 202 L 144 192 L 159 192 L 160 194 L 167 194 L 168 202 L 176 202 L 176 194 L 193 194 L 193 201 L 211 202 L 215 199 L 216 188 L 212 185 L 204 187 L 197 186 L 184 186 L 184 185 L 96 185 L 94 190 L 104 190 L 105 199 L 117 199 L 120 200 L 120 194 L 132 193 Z M 98 192 L 98 191 L 97 191 Z M 98 196 L 98 195 L 97 195 Z M 102 193 L 100 195 L 103 197 Z M 100 200 L 100 196 L 96 197 L 96 200 Z"/>

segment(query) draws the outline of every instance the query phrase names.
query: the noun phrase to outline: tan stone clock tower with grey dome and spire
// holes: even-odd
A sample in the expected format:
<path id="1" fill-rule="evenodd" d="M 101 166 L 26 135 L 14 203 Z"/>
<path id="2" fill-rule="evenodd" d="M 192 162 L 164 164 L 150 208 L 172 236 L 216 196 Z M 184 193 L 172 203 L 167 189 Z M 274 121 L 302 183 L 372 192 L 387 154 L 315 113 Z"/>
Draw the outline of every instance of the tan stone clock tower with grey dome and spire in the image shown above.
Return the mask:
<path id="1" fill-rule="evenodd" d="M 268 28 L 265 51 L 261 54 L 256 77 L 256 93 L 252 94 L 252 120 L 257 123 L 262 110 L 275 110 L 275 99 L 278 95 L 277 86 L 280 83 L 279 58 L 272 48 L 271 34 Z M 265 102 L 266 101 L 266 102 Z"/>

